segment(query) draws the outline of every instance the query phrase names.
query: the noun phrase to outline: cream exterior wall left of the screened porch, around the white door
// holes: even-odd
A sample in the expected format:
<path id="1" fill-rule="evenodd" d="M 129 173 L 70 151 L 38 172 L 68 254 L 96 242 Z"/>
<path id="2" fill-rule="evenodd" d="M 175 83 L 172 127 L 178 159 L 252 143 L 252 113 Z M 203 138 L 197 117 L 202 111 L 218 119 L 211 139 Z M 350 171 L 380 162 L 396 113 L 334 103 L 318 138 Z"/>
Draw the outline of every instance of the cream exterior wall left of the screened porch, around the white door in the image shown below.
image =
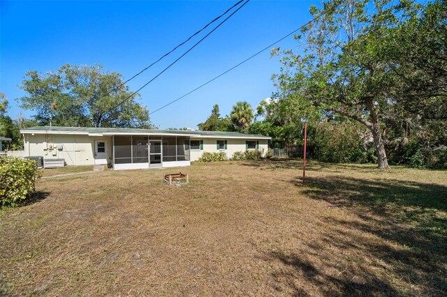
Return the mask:
<path id="1" fill-rule="evenodd" d="M 94 165 L 95 140 L 107 143 L 108 163 L 112 162 L 112 137 L 88 135 L 25 135 L 24 156 L 65 159 L 66 165 Z M 62 149 L 57 149 L 61 145 Z M 53 148 L 50 149 L 50 146 Z"/>

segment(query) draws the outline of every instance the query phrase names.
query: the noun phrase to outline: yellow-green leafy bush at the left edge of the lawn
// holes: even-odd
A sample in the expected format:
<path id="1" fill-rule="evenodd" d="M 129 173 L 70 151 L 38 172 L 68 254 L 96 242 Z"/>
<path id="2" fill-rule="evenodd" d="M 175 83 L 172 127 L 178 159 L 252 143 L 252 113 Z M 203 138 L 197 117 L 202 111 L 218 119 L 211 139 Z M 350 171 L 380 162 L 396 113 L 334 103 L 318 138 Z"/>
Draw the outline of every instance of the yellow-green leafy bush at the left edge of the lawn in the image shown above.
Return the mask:
<path id="1" fill-rule="evenodd" d="M 17 157 L 0 158 L 0 205 L 15 205 L 27 199 L 41 178 L 36 161 Z"/>

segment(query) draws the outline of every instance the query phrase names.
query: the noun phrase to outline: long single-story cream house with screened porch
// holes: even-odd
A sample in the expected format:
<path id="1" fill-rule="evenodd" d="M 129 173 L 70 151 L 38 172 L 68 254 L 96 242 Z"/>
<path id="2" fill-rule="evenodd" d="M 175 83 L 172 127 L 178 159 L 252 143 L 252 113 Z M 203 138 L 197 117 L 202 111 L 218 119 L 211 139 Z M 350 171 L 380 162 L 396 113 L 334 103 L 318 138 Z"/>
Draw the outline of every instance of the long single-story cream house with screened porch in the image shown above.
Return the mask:
<path id="1" fill-rule="evenodd" d="M 39 126 L 20 130 L 24 151 L 10 155 L 64 159 L 66 165 L 111 165 L 113 169 L 189 166 L 204 152 L 259 149 L 267 153 L 271 137 L 237 132 L 78 128 Z"/>

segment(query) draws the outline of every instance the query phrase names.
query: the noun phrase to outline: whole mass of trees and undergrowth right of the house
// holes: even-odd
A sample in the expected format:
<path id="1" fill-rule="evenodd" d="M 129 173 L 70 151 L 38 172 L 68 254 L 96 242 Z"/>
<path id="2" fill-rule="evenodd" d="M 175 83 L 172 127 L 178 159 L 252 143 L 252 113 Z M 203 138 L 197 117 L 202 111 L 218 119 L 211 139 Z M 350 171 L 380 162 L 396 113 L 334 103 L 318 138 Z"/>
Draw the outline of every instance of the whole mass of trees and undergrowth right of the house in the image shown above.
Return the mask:
<path id="1" fill-rule="evenodd" d="M 447 1 L 330 0 L 296 50 L 272 50 L 277 92 L 243 132 L 314 158 L 447 168 Z M 227 119 L 228 121 L 228 119 Z"/>

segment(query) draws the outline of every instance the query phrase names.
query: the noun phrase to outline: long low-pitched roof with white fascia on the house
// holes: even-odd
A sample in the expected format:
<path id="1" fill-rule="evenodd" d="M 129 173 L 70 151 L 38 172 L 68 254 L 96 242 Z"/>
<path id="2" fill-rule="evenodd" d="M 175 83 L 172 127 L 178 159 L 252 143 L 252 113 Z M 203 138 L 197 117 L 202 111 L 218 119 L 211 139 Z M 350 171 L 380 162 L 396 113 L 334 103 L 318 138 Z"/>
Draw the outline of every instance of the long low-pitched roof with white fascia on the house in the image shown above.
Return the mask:
<path id="1" fill-rule="evenodd" d="M 166 135 L 166 136 L 189 136 L 205 138 L 251 138 L 251 139 L 271 139 L 272 137 L 243 134 L 239 132 L 221 131 L 189 131 L 189 130 L 158 130 L 158 129 L 135 129 L 135 128 L 85 128 L 85 127 L 57 127 L 57 126 L 36 126 L 20 130 L 23 134 L 74 134 L 74 135 Z"/>

